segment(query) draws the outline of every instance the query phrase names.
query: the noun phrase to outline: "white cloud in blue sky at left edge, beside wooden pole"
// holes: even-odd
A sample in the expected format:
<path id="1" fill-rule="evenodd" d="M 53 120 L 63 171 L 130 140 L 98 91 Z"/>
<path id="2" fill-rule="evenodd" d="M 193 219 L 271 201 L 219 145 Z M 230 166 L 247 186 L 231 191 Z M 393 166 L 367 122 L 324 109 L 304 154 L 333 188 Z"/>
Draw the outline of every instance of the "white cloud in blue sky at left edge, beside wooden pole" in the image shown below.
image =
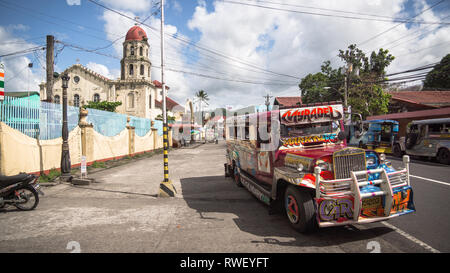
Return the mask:
<path id="1" fill-rule="evenodd" d="M 22 26 L 19 28 L 22 28 Z M 0 55 L 37 46 L 22 38 L 15 37 L 10 31 L 11 29 L 17 28 L 0 26 L 0 41 L 2 41 L 0 43 Z M 37 55 L 13 55 L 2 58 L 1 61 L 5 65 L 5 92 L 39 91 L 39 84 L 45 76 L 45 71 L 41 67 L 41 64 L 45 64 L 43 56 L 45 54 L 40 51 Z M 29 63 L 33 63 L 33 69 L 28 67 Z"/>

